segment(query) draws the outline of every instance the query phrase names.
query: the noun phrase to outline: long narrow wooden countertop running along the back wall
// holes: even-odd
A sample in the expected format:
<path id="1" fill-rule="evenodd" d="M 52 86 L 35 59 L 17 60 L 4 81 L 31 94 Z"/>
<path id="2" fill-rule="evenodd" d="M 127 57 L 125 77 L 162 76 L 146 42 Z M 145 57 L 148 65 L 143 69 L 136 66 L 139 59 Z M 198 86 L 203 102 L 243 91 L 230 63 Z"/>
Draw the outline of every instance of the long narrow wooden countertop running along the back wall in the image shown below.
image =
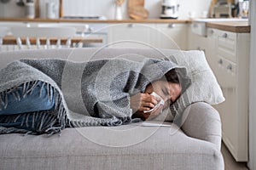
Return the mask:
<path id="1" fill-rule="evenodd" d="M 1 21 L 18 22 L 79 22 L 79 23 L 190 23 L 190 20 L 147 19 L 147 20 L 83 20 L 83 19 L 27 19 L 27 18 L 0 18 Z"/>

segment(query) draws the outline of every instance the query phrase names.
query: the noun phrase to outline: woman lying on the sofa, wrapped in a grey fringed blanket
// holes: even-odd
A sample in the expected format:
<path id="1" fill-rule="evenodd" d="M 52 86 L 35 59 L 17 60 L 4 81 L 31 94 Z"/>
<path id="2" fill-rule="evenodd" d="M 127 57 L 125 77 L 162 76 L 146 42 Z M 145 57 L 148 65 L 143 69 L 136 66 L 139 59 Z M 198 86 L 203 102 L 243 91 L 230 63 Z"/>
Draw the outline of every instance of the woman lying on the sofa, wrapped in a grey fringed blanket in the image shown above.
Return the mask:
<path id="1" fill-rule="evenodd" d="M 188 80 L 185 68 L 162 59 L 22 59 L 0 71 L 0 133 L 9 132 L 1 126 L 55 133 L 144 121 L 171 105 Z"/>

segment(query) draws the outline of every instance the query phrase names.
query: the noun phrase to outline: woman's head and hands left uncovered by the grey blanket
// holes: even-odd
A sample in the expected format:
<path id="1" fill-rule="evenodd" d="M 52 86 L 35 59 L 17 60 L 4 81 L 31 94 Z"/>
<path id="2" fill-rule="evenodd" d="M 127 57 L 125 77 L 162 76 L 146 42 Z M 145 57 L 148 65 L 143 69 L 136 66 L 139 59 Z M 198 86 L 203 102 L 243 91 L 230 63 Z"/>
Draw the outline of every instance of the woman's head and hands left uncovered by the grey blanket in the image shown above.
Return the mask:
<path id="1" fill-rule="evenodd" d="M 159 97 L 150 95 L 158 94 Z M 144 93 L 131 96 L 131 109 L 135 111 L 132 117 L 141 118 L 143 121 L 159 116 L 163 109 L 172 105 L 182 94 L 182 85 L 179 82 L 177 71 L 174 69 L 168 71 L 165 77 L 160 80 L 149 83 Z M 160 100 L 163 99 L 164 105 L 158 105 L 151 111 Z"/>

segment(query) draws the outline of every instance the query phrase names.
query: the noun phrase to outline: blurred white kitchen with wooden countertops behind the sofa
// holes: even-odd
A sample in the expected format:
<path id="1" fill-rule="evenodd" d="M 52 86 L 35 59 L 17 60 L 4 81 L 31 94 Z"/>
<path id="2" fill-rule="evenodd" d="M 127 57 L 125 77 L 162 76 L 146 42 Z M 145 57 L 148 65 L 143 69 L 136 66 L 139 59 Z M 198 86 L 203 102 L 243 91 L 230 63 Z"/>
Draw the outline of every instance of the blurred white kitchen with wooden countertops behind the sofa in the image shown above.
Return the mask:
<path id="1" fill-rule="evenodd" d="M 140 5 L 131 8 L 131 2 Z M 0 0 L 1 25 L 23 26 L 23 30 L 73 27 L 75 48 L 204 51 L 226 98 L 223 105 L 216 106 L 222 118 L 226 153 L 231 158 L 226 161 L 224 155 L 225 165 L 231 166 L 225 169 L 247 169 L 247 165 L 256 169 L 256 0 Z M 1 38 L 5 40 L 3 51 L 31 48 L 22 29 L 15 29 L 21 36 L 6 30 L 5 37 L 0 34 L 0 51 Z M 28 34 L 31 36 L 31 30 Z M 23 44 L 15 36 L 23 36 Z"/>

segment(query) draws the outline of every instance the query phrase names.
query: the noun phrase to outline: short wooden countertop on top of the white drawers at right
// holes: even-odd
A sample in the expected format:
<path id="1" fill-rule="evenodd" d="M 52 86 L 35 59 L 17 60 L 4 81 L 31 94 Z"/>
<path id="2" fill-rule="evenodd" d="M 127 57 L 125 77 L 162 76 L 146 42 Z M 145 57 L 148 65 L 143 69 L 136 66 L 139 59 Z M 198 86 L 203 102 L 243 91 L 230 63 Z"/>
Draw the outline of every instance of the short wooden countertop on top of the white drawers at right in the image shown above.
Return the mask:
<path id="1" fill-rule="evenodd" d="M 221 22 L 207 22 L 208 28 L 216 28 L 223 31 L 231 31 L 236 33 L 248 33 L 251 31 L 251 26 L 245 21 L 221 21 Z"/>

